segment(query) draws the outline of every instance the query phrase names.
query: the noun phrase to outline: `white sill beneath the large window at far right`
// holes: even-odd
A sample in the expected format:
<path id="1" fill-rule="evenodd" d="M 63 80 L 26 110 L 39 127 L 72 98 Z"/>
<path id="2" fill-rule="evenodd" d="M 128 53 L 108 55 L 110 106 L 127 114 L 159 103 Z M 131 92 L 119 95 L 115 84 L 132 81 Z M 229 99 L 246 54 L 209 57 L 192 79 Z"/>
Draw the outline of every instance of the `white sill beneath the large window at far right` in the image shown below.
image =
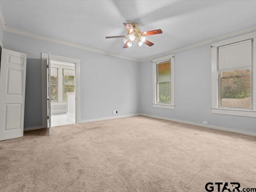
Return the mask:
<path id="1" fill-rule="evenodd" d="M 253 110 L 212 108 L 212 113 L 222 115 L 256 117 L 256 111 Z"/>

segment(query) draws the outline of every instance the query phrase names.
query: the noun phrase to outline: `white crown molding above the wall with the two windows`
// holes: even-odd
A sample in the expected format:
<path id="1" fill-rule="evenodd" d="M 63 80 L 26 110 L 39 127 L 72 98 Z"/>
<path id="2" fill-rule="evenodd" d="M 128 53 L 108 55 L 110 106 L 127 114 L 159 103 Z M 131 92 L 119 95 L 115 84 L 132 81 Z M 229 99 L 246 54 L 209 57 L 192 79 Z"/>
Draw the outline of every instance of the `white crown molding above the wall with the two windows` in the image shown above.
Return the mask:
<path id="1" fill-rule="evenodd" d="M 162 54 L 155 55 L 153 57 L 142 59 L 142 60 L 140 60 L 140 62 L 153 60 L 153 59 L 158 58 L 158 57 L 162 57 L 162 56 L 169 55 L 169 54 L 174 54 L 174 53 L 177 53 L 177 52 L 181 52 L 181 51 L 188 50 L 188 49 L 191 49 L 191 48 L 199 47 L 199 46 L 202 46 L 202 45 L 205 45 L 205 44 L 210 44 L 210 43 L 213 43 L 213 42 L 216 42 L 216 41 L 219 41 L 219 40 L 224 40 L 226 38 L 246 34 L 246 33 L 253 32 L 253 31 L 256 31 L 256 26 L 245 28 L 245 29 L 242 29 L 242 30 L 239 30 L 239 31 L 236 31 L 236 32 L 232 32 L 232 33 L 228 33 L 228 34 L 218 36 L 218 37 L 215 37 L 215 38 L 207 39 L 207 40 L 198 42 L 196 44 L 192 44 L 192 45 L 182 47 L 182 48 L 179 48 L 179 49 L 174 49 L 174 50 L 162 53 Z"/>

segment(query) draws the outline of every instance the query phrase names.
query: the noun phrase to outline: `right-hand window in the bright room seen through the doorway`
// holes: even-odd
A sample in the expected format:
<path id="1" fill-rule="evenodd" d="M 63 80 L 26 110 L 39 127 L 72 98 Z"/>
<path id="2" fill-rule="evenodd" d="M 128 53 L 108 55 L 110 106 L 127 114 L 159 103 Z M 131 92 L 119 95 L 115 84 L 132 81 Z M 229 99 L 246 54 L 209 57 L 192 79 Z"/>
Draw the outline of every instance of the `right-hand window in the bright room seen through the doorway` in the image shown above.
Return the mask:
<path id="1" fill-rule="evenodd" d="M 67 92 L 75 92 L 75 71 L 63 69 L 63 101 L 67 101 Z"/>

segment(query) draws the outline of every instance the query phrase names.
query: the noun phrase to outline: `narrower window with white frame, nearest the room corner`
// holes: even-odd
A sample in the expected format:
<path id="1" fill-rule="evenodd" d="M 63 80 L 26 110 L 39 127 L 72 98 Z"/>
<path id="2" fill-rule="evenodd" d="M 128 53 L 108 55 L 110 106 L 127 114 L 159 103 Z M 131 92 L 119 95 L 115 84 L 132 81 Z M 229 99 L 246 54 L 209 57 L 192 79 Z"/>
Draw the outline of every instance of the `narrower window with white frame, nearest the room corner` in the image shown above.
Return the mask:
<path id="1" fill-rule="evenodd" d="M 153 107 L 174 109 L 174 56 L 153 61 Z"/>

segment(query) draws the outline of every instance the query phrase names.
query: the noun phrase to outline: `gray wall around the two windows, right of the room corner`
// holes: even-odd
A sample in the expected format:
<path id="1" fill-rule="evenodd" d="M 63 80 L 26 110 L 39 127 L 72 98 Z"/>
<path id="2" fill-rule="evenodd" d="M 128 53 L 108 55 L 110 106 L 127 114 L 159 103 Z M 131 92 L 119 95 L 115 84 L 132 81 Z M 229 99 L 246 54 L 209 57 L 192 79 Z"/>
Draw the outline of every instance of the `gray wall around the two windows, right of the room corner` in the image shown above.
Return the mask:
<path id="1" fill-rule="evenodd" d="M 174 54 L 175 110 L 152 107 L 152 63 L 140 64 L 140 113 L 256 132 L 256 118 L 211 113 L 210 44 Z"/>

